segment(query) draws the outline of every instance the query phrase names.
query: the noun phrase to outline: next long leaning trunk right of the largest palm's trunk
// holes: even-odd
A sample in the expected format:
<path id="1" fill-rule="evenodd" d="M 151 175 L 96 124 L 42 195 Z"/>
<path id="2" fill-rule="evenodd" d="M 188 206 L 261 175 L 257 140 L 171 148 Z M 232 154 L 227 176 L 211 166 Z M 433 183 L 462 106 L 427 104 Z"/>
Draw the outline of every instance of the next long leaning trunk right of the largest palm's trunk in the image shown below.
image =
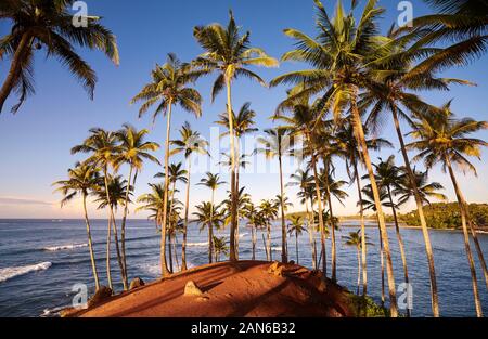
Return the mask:
<path id="1" fill-rule="evenodd" d="M 410 159 L 407 154 L 407 148 L 404 147 L 403 134 L 401 133 L 400 121 L 398 120 L 397 108 L 395 105 L 391 105 L 391 114 L 393 114 L 393 118 L 394 118 L 394 122 L 395 122 L 395 129 L 396 129 L 397 135 L 398 135 L 398 141 L 400 142 L 400 149 L 401 149 L 401 154 L 403 156 L 404 167 L 407 168 L 407 174 L 409 175 L 410 184 L 412 185 L 412 188 L 413 188 L 413 195 L 415 197 L 416 209 L 419 211 L 419 219 L 421 222 L 422 234 L 424 237 L 425 252 L 427 255 L 427 261 L 428 261 L 428 272 L 431 275 L 432 312 L 435 317 L 438 317 L 440 315 L 440 313 L 439 313 L 439 297 L 437 294 L 436 269 L 435 269 L 435 264 L 434 264 L 434 255 L 433 255 L 432 245 L 431 245 L 431 237 L 428 235 L 427 223 L 425 221 L 424 209 L 422 206 L 422 199 L 419 194 L 419 188 L 416 187 L 415 175 L 413 174 L 412 167 L 410 166 Z"/>

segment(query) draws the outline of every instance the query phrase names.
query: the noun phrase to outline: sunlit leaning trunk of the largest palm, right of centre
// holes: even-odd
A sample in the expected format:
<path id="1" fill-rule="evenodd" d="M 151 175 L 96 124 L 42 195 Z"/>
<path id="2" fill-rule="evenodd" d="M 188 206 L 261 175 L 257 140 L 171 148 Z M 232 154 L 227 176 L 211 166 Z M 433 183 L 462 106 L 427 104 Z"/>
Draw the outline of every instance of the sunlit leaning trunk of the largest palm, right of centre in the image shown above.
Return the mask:
<path id="1" fill-rule="evenodd" d="M 358 143 L 361 147 L 363 159 L 365 162 L 365 167 L 368 169 L 368 174 L 370 177 L 371 188 L 373 191 L 374 203 L 376 206 L 376 212 L 380 221 L 380 232 L 381 237 L 383 238 L 383 245 L 386 255 L 386 272 L 388 277 L 388 290 L 389 290 L 389 310 L 393 317 L 398 316 L 397 309 L 397 296 L 396 296 L 396 286 L 395 286 L 395 275 L 391 262 L 391 252 L 389 250 L 389 242 L 388 242 L 388 233 L 386 231 L 385 216 L 383 214 L 382 201 L 380 199 L 380 191 L 376 184 L 376 180 L 374 178 L 373 166 L 371 165 L 370 153 L 368 151 L 368 145 L 364 139 L 364 130 L 362 128 L 361 117 L 359 116 L 359 110 L 356 105 L 356 95 L 357 89 L 355 89 L 355 93 L 351 99 L 351 110 L 354 117 L 354 127 L 356 130 L 356 138 L 358 139 Z"/>

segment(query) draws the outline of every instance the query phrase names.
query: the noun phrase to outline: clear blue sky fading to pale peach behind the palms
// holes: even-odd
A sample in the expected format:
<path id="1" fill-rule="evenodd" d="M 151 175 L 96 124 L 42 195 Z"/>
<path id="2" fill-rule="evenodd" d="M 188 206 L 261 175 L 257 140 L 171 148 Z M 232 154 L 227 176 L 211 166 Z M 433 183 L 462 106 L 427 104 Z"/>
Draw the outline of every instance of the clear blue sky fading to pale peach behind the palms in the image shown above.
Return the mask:
<path id="1" fill-rule="evenodd" d="M 213 0 L 213 1 L 129 1 L 129 0 L 88 0 L 90 15 L 103 16 L 103 24 L 117 36 L 120 50 L 120 65 L 115 67 L 102 53 L 81 51 L 81 55 L 92 65 L 99 77 L 93 101 L 64 69 L 57 61 L 46 58 L 44 51 L 39 51 L 35 63 L 36 95 L 28 99 L 21 110 L 13 116 L 10 106 L 15 103 L 11 97 L 2 115 L 0 115 L 0 218 L 81 218 L 79 204 L 74 201 L 63 209 L 59 206 L 60 195 L 53 194 L 51 183 L 66 177 L 66 170 L 82 159 L 72 156 L 69 149 L 80 143 L 91 127 L 102 127 L 116 130 L 124 122 L 130 122 L 137 128 L 149 128 L 151 140 L 164 143 L 165 120 L 160 117 L 154 125 L 147 115 L 138 119 L 138 106 L 129 105 L 130 99 L 150 80 L 150 71 L 156 63 L 164 63 L 168 52 L 175 52 L 183 61 L 190 61 L 202 52 L 195 42 L 192 30 L 195 25 L 215 22 L 226 24 L 228 11 L 234 11 L 239 25 L 251 30 L 252 44 L 264 48 L 268 54 L 280 57 L 292 48 L 292 40 L 282 30 L 287 27 L 304 30 L 313 35 L 314 10 L 311 0 Z M 323 1 L 332 14 L 335 1 Z M 345 1 L 346 4 L 349 1 Z M 360 1 L 361 4 L 364 1 Z M 382 27 L 386 30 L 396 22 L 399 1 L 380 1 L 387 9 Z M 422 1 L 412 1 L 414 15 L 422 15 L 428 9 Z M 0 22 L 0 35 L 3 36 L 10 27 L 7 22 Z M 10 61 L 0 63 L 0 81 L 3 81 Z M 303 65 L 282 64 L 274 69 L 256 69 L 266 80 L 288 71 L 301 68 Z M 431 92 L 423 97 L 433 104 L 442 104 L 454 97 L 453 110 L 459 115 L 467 115 L 476 119 L 486 119 L 488 108 L 488 56 L 464 68 L 451 69 L 445 73 L 447 77 L 458 77 L 476 82 L 475 88 L 455 87 L 450 92 Z M 220 95 L 214 104 L 209 92 L 214 77 L 200 80 L 197 89 L 204 96 L 203 117 L 196 120 L 193 116 L 176 108 L 172 121 L 172 136 L 185 121 L 190 121 L 205 138 L 210 138 L 210 127 L 217 115 L 224 110 L 224 95 Z M 256 122 L 259 129 L 271 127 L 268 119 L 277 104 L 283 100 L 285 88 L 265 89 L 248 80 L 237 80 L 233 87 L 234 109 L 244 102 L 252 102 L 256 110 Z M 406 129 L 407 131 L 407 129 Z M 387 149 L 381 154 L 372 154 L 386 158 L 398 153 L 396 134 L 391 125 L 387 125 L 382 136 L 394 142 L 396 149 Z M 478 138 L 488 139 L 488 133 L 481 132 Z M 163 151 L 157 153 L 163 158 Z M 175 160 L 180 160 L 176 157 Z M 213 160 L 216 162 L 217 160 Z M 256 164 L 262 165 L 262 160 Z M 460 183 L 470 201 L 486 203 L 488 185 L 486 174 L 488 165 L 475 160 L 478 178 L 472 174 L 459 174 Z M 347 179 L 345 166 L 337 162 L 338 179 Z M 420 166 L 420 165 L 419 165 Z M 136 196 L 147 191 L 146 183 L 155 182 L 152 178 L 160 171 L 156 165 L 146 165 L 138 178 Z M 247 173 L 242 177 L 242 184 L 247 187 L 255 201 L 272 198 L 279 192 L 279 178 L 274 173 Z M 121 171 L 126 174 L 126 170 Z M 196 183 L 203 173 L 194 173 L 192 182 Z M 229 181 L 222 172 L 222 179 Z M 431 180 L 442 183 L 445 193 L 454 198 L 448 177 L 437 168 L 431 171 Z M 182 191 L 184 187 L 181 186 Z M 338 214 L 356 213 L 355 187 L 346 187 L 350 197 L 345 206 L 337 203 Z M 216 198 L 226 195 L 227 187 L 217 193 Z M 295 199 L 295 190 L 288 190 L 287 195 Z M 191 205 L 208 199 L 205 187 L 193 186 Z M 411 209 L 412 205 L 404 209 Z M 295 203 L 296 210 L 301 207 Z M 90 207 L 92 217 L 103 218 L 104 211 Z M 132 218 L 145 218 L 144 213 L 131 214 Z"/>

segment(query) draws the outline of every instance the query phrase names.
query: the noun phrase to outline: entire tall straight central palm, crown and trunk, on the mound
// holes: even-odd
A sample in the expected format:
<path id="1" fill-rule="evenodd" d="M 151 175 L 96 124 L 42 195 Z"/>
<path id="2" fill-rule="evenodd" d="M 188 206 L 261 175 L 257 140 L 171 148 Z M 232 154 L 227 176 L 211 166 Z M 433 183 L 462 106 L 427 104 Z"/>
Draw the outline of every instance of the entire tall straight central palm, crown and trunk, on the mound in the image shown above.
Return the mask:
<path id="1" fill-rule="evenodd" d="M 247 66 L 278 66 L 278 61 L 268 56 L 264 50 L 249 47 L 251 32 L 240 36 L 240 27 L 235 24 L 232 12 L 229 13 L 229 24 L 227 27 L 220 24 L 208 26 L 197 26 L 193 35 L 198 44 L 205 50 L 200 55 L 195 64 L 206 73 L 218 73 L 217 79 L 211 90 L 211 99 L 226 87 L 227 89 L 227 114 L 229 117 L 229 139 L 231 156 L 231 230 L 230 230 L 230 260 L 236 260 L 235 253 L 235 229 L 237 227 L 237 206 L 236 206 L 236 157 L 234 146 L 234 123 L 232 120 L 232 81 L 237 77 L 246 77 L 266 86 L 266 82 Z"/>

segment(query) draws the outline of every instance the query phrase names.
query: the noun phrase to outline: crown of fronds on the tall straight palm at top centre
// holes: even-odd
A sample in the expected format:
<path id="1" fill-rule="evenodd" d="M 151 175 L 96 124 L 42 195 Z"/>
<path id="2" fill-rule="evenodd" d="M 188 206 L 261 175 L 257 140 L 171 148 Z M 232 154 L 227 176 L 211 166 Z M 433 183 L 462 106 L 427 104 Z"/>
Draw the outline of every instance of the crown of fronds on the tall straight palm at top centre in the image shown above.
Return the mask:
<path id="1" fill-rule="evenodd" d="M 231 81 L 237 77 L 245 77 L 266 86 L 256 73 L 248 66 L 275 67 L 278 61 L 266 54 L 262 49 L 251 47 L 251 32 L 241 35 L 235 24 L 232 11 L 229 13 L 227 27 L 220 24 L 196 26 L 193 35 L 198 44 L 205 50 L 195 61 L 200 69 L 207 74 L 218 71 L 219 75 L 211 89 L 211 100 L 224 88 L 226 79 Z"/>

